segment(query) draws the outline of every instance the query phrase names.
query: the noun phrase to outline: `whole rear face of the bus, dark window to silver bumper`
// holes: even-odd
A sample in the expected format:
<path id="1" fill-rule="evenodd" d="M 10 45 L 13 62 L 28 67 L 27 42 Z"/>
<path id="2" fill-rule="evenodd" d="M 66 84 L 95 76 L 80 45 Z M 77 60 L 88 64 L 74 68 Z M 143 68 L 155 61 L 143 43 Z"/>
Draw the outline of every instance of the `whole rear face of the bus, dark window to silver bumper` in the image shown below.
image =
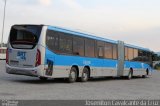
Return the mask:
<path id="1" fill-rule="evenodd" d="M 42 26 L 14 25 L 11 28 L 6 53 L 9 74 L 41 76 L 43 73 L 40 45 Z"/>

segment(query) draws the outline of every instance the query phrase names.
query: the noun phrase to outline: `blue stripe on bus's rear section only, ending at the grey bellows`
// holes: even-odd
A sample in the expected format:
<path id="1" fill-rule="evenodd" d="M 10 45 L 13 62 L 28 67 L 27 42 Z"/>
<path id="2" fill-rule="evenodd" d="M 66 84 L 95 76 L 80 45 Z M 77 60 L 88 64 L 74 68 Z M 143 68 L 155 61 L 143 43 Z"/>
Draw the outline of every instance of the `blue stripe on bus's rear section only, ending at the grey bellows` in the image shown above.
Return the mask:
<path id="1" fill-rule="evenodd" d="M 117 60 L 97 59 L 80 56 L 57 55 L 46 49 L 45 64 L 47 59 L 54 62 L 58 66 L 92 66 L 92 67 L 112 67 L 116 68 Z"/>

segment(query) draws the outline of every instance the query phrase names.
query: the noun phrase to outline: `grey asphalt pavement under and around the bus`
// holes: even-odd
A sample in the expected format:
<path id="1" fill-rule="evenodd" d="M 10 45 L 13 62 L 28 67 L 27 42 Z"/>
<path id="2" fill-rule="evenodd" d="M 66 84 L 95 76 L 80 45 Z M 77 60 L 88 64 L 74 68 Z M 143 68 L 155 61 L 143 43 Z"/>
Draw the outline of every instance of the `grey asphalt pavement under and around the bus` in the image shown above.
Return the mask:
<path id="1" fill-rule="evenodd" d="M 12 100 L 112 100 L 160 99 L 160 72 L 149 78 L 96 78 L 86 83 L 64 80 L 40 81 L 35 77 L 9 75 L 0 61 L 0 99 Z"/>

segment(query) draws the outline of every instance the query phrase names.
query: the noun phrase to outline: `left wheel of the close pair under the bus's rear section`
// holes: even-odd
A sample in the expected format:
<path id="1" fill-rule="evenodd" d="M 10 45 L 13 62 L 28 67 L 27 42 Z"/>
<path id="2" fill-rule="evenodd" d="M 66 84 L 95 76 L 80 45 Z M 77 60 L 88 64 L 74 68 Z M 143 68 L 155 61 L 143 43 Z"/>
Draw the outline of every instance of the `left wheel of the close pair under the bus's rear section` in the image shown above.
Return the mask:
<path id="1" fill-rule="evenodd" d="M 75 67 L 72 67 L 69 73 L 68 82 L 74 83 L 77 80 L 77 69 Z"/>

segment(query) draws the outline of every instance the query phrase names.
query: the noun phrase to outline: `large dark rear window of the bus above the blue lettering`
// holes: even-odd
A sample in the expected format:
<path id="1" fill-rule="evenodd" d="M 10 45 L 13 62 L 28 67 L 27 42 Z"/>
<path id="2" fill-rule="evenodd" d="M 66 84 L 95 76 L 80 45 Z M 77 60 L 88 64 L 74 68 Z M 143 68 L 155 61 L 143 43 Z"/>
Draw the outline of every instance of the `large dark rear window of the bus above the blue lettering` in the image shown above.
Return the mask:
<path id="1" fill-rule="evenodd" d="M 38 43 L 40 26 L 13 26 L 10 33 L 10 44 L 16 49 L 33 49 Z"/>

